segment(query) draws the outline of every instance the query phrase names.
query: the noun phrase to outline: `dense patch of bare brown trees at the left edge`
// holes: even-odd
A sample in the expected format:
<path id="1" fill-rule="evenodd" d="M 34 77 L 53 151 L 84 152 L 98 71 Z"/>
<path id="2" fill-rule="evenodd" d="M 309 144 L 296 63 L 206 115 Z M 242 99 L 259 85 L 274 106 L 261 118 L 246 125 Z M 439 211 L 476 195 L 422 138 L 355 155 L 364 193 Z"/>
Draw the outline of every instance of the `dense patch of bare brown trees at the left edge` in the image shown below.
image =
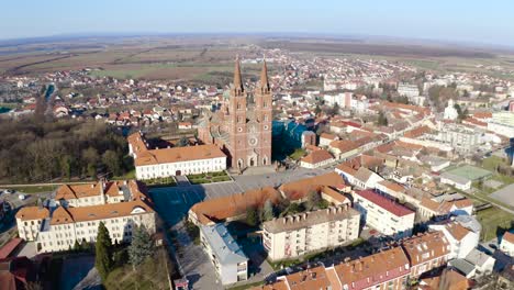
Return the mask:
<path id="1" fill-rule="evenodd" d="M 125 138 L 104 123 L 0 119 L 0 181 L 47 182 L 131 170 Z"/>

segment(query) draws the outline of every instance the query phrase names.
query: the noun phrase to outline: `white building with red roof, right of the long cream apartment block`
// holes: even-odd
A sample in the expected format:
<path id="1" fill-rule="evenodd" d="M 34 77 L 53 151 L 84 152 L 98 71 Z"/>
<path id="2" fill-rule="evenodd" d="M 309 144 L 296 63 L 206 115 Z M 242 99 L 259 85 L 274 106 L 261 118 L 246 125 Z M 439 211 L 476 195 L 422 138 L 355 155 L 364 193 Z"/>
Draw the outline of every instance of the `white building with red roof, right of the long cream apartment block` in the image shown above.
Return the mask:
<path id="1" fill-rule="evenodd" d="M 415 212 L 371 190 L 354 192 L 354 207 L 366 225 L 395 238 L 412 235 Z"/>

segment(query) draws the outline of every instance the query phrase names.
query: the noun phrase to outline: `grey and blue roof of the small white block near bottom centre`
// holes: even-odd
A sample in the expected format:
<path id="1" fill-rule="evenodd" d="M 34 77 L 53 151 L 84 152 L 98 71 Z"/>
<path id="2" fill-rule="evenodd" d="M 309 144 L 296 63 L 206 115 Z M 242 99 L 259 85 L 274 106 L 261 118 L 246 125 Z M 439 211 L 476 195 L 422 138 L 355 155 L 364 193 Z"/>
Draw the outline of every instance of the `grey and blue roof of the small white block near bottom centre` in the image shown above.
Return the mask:
<path id="1" fill-rule="evenodd" d="M 200 230 L 220 264 L 230 265 L 248 260 L 224 224 L 202 225 Z"/>

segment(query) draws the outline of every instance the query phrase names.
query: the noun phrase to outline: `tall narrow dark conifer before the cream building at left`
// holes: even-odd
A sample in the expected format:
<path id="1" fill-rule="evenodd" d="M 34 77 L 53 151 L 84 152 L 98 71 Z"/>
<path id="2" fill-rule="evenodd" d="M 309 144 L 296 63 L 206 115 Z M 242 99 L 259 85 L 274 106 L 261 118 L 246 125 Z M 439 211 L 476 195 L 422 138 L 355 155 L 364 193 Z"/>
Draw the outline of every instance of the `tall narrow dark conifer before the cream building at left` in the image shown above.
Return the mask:
<path id="1" fill-rule="evenodd" d="M 109 236 L 109 230 L 103 222 L 98 225 L 97 244 L 94 253 L 94 267 L 97 268 L 100 277 L 105 281 L 109 272 L 112 269 L 112 242 Z"/>

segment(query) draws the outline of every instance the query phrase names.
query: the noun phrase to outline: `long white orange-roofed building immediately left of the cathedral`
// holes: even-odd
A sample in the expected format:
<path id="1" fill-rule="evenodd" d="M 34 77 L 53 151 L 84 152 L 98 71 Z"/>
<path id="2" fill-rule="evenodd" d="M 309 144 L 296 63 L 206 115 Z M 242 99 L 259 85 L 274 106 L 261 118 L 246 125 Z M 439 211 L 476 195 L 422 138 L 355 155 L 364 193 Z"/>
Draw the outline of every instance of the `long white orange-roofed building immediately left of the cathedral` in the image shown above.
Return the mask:
<path id="1" fill-rule="evenodd" d="M 226 170 L 226 155 L 213 144 L 148 149 L 139 133 L 128 136 L 137 179 L 216 172 Z"/>

